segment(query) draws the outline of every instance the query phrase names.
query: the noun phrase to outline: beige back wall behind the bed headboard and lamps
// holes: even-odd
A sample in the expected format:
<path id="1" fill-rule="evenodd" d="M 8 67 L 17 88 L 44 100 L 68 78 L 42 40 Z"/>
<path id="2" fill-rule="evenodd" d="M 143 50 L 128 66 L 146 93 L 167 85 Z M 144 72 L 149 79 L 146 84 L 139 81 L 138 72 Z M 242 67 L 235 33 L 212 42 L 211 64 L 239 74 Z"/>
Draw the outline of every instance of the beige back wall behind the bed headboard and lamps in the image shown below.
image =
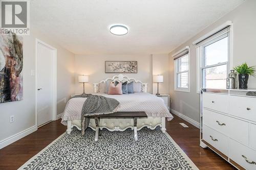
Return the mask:
<path id="1" fill-rule="evenodd" d="M 93 92 L 93 83 L 106 78 L 112 78 L 118 74 L 105 74 L 104 62 L 108 60 L 138 61 L 137 74 L 123 74 L 129 78 L 135 78 L 148 83 L 148 92 L 152 93 L 152 65 L 154 74 L 164 74 L 165 83 L 160 85 L 160 92 L 168 92 L 168 55 L 76 55 L 76 93 L 82 92 L 82 83 L 78 83 L 79 75 L 89 75 L 89 83 L 86 84 L 86 92 Z M 162 63 L 162 64 L 161 64 Z M 154 91 L 155 89 L 154 83 Z"/>

